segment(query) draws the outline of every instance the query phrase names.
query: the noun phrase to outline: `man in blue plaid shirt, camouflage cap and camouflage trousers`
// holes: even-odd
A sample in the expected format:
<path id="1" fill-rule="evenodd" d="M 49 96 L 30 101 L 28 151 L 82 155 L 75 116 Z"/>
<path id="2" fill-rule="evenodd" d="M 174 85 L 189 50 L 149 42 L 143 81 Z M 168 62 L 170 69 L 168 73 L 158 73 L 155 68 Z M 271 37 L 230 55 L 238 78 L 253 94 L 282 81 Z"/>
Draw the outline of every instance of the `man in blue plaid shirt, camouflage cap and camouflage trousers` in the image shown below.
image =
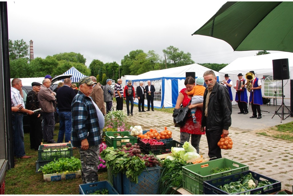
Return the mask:
<path id="1" fill-rule="evenodd" d="M 101 136 L 105 119 L 89 96 L 93 82 L 86 76 L 79 80 L 79 92 L 71 103 L 72 144 L 78 147 L 81 159 L 81 178 L 83 183 L 98 182 L 98 164 Z"/>

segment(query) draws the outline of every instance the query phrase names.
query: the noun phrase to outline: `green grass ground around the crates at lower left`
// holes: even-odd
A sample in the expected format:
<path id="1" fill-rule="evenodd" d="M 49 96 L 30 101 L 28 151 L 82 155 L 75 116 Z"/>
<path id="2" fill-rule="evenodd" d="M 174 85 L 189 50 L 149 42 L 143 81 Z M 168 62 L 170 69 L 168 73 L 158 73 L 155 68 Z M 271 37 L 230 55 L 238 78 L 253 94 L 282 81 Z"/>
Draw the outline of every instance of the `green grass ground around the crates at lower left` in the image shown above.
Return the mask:
<path id="1" fill-rule="evenodd" d="M 55 131 L 57 135 L 54 140 L 58 138 L 59 124 L 56 124 Z M 81 178 L 74 180 L 61 180 L 53 182 L 45 182 L 43 180 L 43 173 L 36 173 L 36 164 L 38 160 L 38 151 L 30 149 L 29 134 L 24 134 L 25 152 L 32 158 L 21 159 L 15 158 L 15 166 L 6 171 L 5 178 L 5 194 L 79 194 L 79 185 L 83 184 Z M 78 149 L 73 149 L 73 156 L 79 157 Z M 107 171 L 104 170 L 99 173 L 99 181 L 107 180 Z"/>

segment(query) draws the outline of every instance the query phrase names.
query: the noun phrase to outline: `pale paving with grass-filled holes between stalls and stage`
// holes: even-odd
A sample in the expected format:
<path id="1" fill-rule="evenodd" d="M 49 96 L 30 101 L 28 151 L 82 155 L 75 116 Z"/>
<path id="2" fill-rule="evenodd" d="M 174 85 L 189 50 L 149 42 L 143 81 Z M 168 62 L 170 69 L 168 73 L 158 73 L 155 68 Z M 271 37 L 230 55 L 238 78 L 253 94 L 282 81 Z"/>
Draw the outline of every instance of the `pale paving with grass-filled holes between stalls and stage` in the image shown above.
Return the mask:
<path id="1" fill-rule="evenodd" d="M 113 105 L 116 108 L 115 101 Z M 249 170 L 281 181 L 282 189 L 292 191 L 293 143 L 257 134 L 257 132 L 264 132 L 266 128 L 293 121 L 292 117 L 282 120 L 282 123 L 278 115 L 272 118 L 278 108 L 279 106 L 263 105 L 261 107 L 262 118 L 250 119 L 249 117 L 252 115 L 250 107 L 249 113 L 243 115 L 237 114 L 239 108 L 237 105 L 233 105 L 232 125 L 229 128 L 229 136 L 233 140 L 233 149 L 222 150 L 222 157 L 246 164 L 249 166 Z M 125 103 L 123 110 L 127 112 Z M 168 127 L 172 131 L 173 140 L 180 142 L 180 129 L 174 127 L 171 113 L 158 110 L 138 112 L 138 107 L 134 104 L 133 114 L 133 116 L 128 116 L 127 120 L 131 125 L 141 125 L 143 130 L 155 128 L 159 132 L 164 130 L 164 127 Z M 205 135 L 202 135 L 200 154 L 208 157 L 207 153 L 207 138 Z"/>

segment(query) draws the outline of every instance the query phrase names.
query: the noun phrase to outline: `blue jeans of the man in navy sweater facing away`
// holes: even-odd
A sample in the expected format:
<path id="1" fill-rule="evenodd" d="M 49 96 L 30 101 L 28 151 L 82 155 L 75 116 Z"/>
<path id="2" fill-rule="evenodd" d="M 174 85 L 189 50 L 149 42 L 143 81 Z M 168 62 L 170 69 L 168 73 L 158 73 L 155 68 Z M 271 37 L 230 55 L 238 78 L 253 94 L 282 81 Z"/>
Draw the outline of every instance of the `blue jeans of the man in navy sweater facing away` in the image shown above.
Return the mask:
<path id="1" fill-rule="evenodd" d="M 60 112 L 59 111 L 59 134 L 58 134 L 58 143 L 63 142 L 64 133 L 65 133 L 65 142 L 71 141 L 71 132 L 72 132 L 72 121 L 71 121 L 71 112 Z"/>

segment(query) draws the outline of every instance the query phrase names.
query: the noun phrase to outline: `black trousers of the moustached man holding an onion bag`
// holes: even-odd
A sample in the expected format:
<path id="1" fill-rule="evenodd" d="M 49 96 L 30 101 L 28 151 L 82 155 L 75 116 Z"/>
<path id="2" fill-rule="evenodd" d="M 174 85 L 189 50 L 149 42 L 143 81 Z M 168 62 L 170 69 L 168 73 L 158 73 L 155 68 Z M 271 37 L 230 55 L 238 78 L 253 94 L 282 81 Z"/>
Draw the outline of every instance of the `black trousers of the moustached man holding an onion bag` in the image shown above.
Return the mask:
<path id="1" fill-rule="evenodd" d="M 221 139 L 221 135 L 223 133 L 223 129 L 213 129 L 213 130 L 205 130 L 205 134 L 207 136 L 207 144 L 209 146 L 209 160 L 214 160 L 218 158 L 222 158 L 221 149 L 218 146 L 218 142 Z"/>

